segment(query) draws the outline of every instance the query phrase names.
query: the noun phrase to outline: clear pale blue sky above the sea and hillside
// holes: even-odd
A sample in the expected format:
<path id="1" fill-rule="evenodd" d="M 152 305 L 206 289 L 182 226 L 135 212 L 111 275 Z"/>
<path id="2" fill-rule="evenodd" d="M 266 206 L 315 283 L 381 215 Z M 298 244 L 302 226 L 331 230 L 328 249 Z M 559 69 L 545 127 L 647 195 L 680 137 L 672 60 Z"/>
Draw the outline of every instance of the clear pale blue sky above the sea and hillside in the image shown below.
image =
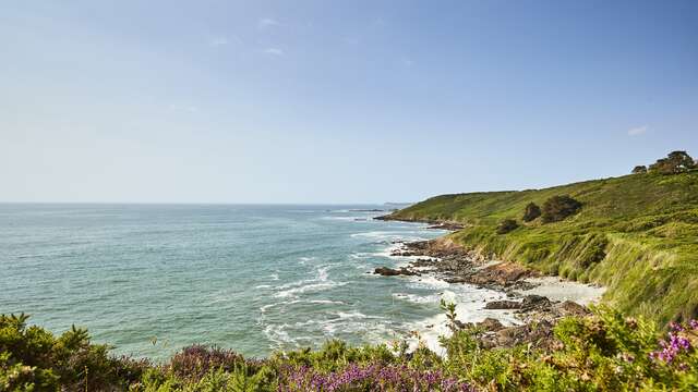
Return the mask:
<path id="1" fill-rule="evenodd" d="M 698 156 L 694 0 L 0 10 L 0 201 L 416 201 Z"/>

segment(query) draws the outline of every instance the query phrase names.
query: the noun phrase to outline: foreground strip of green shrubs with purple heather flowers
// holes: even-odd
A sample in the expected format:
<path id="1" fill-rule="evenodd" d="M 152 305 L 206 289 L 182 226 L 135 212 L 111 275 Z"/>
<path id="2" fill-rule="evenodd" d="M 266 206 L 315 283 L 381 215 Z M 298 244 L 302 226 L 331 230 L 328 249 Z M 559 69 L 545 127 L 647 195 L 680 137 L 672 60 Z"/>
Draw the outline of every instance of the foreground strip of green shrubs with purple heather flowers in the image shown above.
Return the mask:
<path id="1" fill-rule="evenodd" d="M 643 318 L 600 307 L 555 326 L 544 346 L 486 348 L 480 327 L 462 327 L 444 304 L 445 356 L 405 341 L 277 352 L 264 359 L 191 346 L 164 364 L 112 357 L 85 330 L 59 336 L 0 316 L 0 391 L 619 391 L 698 390 L 698 321 L 666 333 Z M 419 338 L 419 336 L 418 336 Z M 234 345 L 234 342 L 230 342 Z"/>

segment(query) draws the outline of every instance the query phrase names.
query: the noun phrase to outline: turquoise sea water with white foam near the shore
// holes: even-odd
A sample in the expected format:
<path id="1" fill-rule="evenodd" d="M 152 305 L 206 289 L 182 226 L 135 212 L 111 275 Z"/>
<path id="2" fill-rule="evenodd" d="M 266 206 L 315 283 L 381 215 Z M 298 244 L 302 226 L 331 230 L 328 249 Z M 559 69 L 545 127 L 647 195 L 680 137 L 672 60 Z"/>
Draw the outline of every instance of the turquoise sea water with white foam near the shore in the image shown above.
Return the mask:
<path id="1" fill-rule="evenodd" d="M 265 356 L 393 340 L 431 327 L 445 292 L 484 317 L 496 293 L 366 273 L 406 261 L 393 242 L 444 234 L 358 211 L 372 208 L 0 205 L 0 313 L 155 359 L 192 343 Z"/>

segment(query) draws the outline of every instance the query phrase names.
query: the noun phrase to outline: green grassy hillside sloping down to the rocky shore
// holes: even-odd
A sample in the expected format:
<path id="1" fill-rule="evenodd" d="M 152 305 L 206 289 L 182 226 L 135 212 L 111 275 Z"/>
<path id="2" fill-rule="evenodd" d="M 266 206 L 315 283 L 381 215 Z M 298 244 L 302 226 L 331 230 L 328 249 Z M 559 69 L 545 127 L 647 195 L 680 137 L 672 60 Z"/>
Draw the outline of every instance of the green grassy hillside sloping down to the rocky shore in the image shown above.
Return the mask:
<path id="1" fill-rule="evenodd" d="M 524 223 L 527 204 L 555 195 L 582 203 L 561 222 Z M 545 189 L 430 198 L 390 218 L 454 221 L 468 248 L 545 273 L 609 287 L 604 299 L 660 324 L 698 317 L 698 171 L 633 174 Z M 504 219 L 520 226 L 496 234 Z"/>

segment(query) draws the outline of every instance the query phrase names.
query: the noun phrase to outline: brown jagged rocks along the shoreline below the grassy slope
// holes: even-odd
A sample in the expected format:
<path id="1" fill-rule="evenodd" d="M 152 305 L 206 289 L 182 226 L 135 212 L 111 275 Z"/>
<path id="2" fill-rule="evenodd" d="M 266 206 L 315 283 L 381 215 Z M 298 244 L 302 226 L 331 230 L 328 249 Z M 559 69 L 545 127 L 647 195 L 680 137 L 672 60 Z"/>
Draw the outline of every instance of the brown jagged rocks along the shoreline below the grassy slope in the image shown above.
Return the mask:
<path id="1" fill-rule="evenodd" d="M 555 301 L 546 296 L 527 294 L 535 289 L 541 278 L 538 271 L 519 265 L 493 260 L 482 254 L 467 250 L 447 237 L 419 242 L 394 242 L 399 247 L 392 256 L 409 256 L 413 260 L 397 269 L 376 268 L 373 273 L 383 277 L 433 275 L 448 283 L 466 283 L 482 289 L 505 292 L 508 299 L 492 301 L 485 309 L 514 310 L 518 326 L 503 326 L 497 319 L 486 318 L 478 323 L 462 323 L 459 328 L 474 328 L 483 347 L 512 347 L 531 344 L 541 348 L 553 348 L 553 327 L 566 316 L 589 314 L 585 305 L 573 301 Z"/>

